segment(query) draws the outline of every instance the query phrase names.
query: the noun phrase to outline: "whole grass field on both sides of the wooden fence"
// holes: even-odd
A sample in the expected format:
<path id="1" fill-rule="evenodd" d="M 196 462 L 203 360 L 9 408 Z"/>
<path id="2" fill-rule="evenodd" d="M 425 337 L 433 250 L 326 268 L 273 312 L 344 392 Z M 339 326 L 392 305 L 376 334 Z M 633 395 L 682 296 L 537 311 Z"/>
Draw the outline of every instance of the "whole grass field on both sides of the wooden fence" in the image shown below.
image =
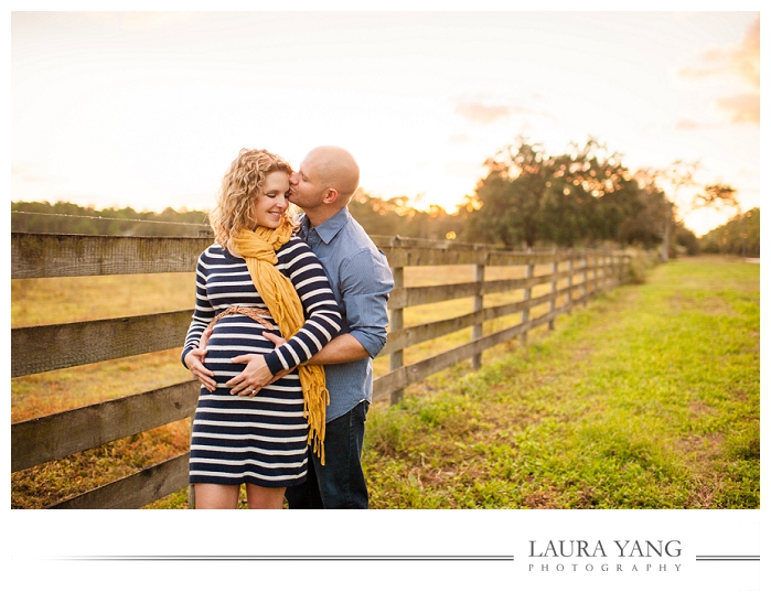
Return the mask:
<path id="1" fill-rule="evenodd" d="M 471 267 L 469 274 L 416 268 L 406 284 L 470 278 Z M 12 326 L 179 310 L 192 305 L 192 291 L 191 274 L 13 281 Z M 485 298 L 485 305 L 520 297 Z M 471 300 L 407 309 L 405 323 L 470 310 Z M 410 348 L 406 360 L 464 343 L 467 331 Z M 538 330 L 526 352 L 499 346 L 479 373 L 463 363 L 410 387 L 397 407 L 373 405 L 372 506 L 754 508 L 758 331 L 757 265 L 662 266 L 646 284 L 559 319 L 556 332 Z M 12 379 L 12 421 L 184 380 L 178 358 L 175 349 Z M 376 360 L 376 375 L 387 362 Z M 180 421 L 12 474 L 12 507 L 46 506 L 127 475 L 184 451 L 188 438 L 189 422 Z M 181 492 L 152 506 L 185 500 Z"/>

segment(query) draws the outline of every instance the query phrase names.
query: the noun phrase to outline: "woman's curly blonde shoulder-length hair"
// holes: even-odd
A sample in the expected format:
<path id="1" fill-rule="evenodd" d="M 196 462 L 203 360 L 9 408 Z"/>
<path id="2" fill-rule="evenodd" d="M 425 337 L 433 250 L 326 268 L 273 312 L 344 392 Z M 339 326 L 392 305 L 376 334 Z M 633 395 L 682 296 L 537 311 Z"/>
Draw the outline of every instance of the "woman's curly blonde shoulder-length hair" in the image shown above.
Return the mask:
<path id="1" fill-rule="evenodd" d="M 222 179 L 217 204 L 208 214 L 214 239 L 227 247 L 244 228 L 254 228 L 254 201 L 263 194 L 265 179 L 272 172 L 292 175 L 293 170 L 277 154 L 265 149 L 242 149 Z M 287 211 L 289 214 L 289 209 Z"/>

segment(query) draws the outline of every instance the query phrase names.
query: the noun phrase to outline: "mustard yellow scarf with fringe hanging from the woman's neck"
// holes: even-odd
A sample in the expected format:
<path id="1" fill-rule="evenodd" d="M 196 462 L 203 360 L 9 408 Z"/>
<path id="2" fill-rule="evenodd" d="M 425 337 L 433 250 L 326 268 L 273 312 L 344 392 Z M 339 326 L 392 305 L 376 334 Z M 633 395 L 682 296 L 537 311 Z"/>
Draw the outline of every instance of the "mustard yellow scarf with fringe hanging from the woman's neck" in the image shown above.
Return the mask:
<path id="1" fill-rule="evenodd" d="M 233 250 L 246 260 L 251 282 L 267 304 L 285 340 L 300 331 L 306 322 L 295 286 L 276 268 L 276 251 L 286 245 L 291 235 L 292 222 L 285 218 L 278 228 L 258 226 L 254 233 L 242 230 L 231 241 Z M 319 454 L 323 465 L 326 406 L 330 403 L 324 369 L 319 365 L 300 365 L 298 373 L 304 399 L 303 416 L 309 424 L 308 443 L 312 443 L 313 452 Z"/>

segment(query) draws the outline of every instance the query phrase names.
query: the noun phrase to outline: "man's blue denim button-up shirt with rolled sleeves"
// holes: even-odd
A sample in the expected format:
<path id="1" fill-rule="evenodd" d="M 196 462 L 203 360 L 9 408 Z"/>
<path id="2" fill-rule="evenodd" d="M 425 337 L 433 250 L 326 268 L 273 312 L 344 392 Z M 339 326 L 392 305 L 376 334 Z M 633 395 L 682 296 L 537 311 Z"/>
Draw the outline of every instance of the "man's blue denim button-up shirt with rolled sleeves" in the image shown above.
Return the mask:
<path id="1" fill-rule="evenodd" d="M 350 333 L 370 353 L 343 364 L 324 365 L 330 406 L 326 422 L 349 412 L 363 400 L 372 401 L 372 358 L 386 343 L 388 294 L 394 277 L 381 251 L 347 207 L 312 228 L 300 216 L 299 236 L 319 257 L 330 279 L 340 312 L 342 333 Z"/>

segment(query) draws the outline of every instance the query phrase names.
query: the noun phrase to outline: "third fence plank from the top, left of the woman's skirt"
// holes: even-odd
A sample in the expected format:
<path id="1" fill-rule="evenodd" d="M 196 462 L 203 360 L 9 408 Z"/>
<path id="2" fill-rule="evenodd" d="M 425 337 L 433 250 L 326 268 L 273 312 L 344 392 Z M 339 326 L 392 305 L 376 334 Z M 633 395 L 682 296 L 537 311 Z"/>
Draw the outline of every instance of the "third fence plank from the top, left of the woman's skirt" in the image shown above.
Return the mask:
<path id="1" fill-rule="evenodd" d="M 191 380 L 13 423 L 11 472 L 190 417 L 199 389 Z"/>

